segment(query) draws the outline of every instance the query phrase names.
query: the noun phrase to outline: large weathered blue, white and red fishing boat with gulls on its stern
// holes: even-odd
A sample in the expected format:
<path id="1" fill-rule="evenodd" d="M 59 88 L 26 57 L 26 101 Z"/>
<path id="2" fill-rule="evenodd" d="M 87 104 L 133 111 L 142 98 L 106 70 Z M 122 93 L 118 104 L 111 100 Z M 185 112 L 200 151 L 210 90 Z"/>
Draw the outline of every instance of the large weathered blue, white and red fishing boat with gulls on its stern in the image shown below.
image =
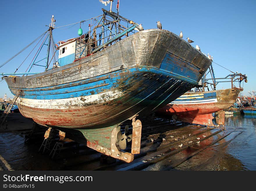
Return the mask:
<path id="1" fill-rule="evenodd" d="M 197 85 L 211 61 L 170 31 L 143 30 L 118 13 L 102 10 L 101 18 L 90 20 L 87 33 L 82 34 L 82 21 L 80 37 L 60 41 L 58 47 L 52 17 L 45 32 L 45 72 L 3 78 L 24 117 L 131 162 L 140 152 L 142 125 L 136 116 L 161 108 Z M 52 58 L 50 47 L 57 50 Z M 33 65 L 38 65 L 36 60 Z M 128 126 L 124 134 L 120 131 L 127 119 L 132 120 L 132 135 Z M 130 140 L 131 153 L 122 151 Z"/>

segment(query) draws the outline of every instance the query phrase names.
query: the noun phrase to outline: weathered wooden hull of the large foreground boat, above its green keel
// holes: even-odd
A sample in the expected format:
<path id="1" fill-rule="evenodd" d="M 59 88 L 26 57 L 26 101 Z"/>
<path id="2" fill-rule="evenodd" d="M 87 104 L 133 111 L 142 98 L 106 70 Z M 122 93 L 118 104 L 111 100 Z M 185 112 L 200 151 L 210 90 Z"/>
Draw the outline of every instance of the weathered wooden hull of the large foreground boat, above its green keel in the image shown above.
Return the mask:
<path id="1" fill-rule="evenodd" d="M 135 33 L 89 57 L 24 77 L 6 77 L 19 110 L 54 128 L 119 124 L 170 103 L 195 86 L 210 60 L 166 30 Z"/>

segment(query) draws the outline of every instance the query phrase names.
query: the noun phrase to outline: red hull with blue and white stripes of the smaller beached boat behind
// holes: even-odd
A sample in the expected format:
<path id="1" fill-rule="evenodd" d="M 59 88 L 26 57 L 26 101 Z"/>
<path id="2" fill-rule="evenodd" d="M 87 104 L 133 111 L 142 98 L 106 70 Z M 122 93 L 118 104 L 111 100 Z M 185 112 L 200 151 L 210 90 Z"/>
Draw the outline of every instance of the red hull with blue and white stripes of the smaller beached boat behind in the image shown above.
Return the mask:
<path id="1" fill-rule="evenodd" d="M 224 89 L 208 92 L 187 92 L 178 99 L 159 109 L 156 113 L 195 124 L 212 125 L 212 113 L 232 106 L 241 90 Z"/>

